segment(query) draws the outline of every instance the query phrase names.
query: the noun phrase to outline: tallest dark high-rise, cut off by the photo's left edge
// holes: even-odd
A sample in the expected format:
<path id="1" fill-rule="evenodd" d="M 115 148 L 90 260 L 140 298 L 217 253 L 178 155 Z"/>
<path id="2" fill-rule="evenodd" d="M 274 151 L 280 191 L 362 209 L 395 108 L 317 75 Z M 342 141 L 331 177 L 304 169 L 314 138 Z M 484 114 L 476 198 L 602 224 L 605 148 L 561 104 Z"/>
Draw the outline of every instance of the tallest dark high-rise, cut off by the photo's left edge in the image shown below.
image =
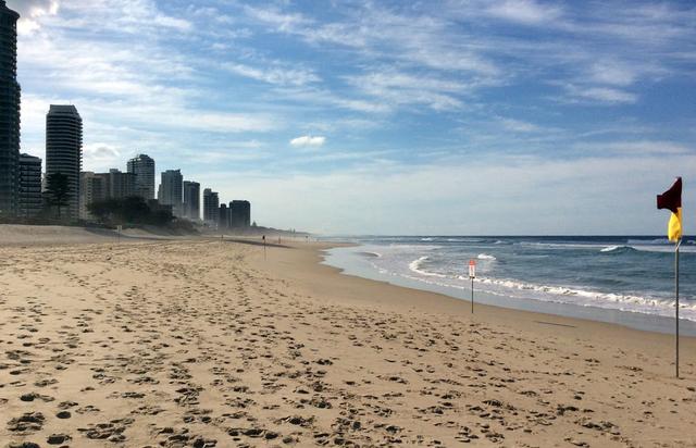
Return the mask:
<path id="1" fill-rule="evenodd" d="M 0 216 L 17 212 L 20 165 L 20 85 L 17 20 L 0 0 Z"/>

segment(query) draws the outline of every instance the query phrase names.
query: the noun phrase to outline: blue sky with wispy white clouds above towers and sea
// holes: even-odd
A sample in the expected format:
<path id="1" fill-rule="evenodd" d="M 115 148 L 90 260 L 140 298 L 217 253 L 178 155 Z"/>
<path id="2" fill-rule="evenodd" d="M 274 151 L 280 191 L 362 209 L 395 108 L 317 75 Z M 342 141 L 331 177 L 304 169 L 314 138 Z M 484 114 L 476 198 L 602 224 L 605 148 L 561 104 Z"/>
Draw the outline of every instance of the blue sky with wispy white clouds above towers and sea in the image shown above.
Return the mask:
<path id="1" fill-rule="evenodd" d="M 332 234 L 661 234 L 696 195 L 696 5 L 8 0 L 22 146 L 50 103 L 87 170 L 158 171 Z M 696 185 L 696 184 L 694 184 Z"/>

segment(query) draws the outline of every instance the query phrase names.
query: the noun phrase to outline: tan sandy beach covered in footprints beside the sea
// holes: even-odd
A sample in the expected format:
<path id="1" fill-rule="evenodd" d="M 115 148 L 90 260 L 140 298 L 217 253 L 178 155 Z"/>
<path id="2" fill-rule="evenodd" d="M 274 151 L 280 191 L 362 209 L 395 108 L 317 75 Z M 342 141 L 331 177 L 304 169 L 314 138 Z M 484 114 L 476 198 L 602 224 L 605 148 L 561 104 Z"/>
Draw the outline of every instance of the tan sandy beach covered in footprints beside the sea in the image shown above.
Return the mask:
<path id="1" fill-rule="evenodd" d="M 0 248 L 0 446 L 696 446 L 694 339 L 675 379 L 669 336 L 471 315 L 321 248 Z"/>

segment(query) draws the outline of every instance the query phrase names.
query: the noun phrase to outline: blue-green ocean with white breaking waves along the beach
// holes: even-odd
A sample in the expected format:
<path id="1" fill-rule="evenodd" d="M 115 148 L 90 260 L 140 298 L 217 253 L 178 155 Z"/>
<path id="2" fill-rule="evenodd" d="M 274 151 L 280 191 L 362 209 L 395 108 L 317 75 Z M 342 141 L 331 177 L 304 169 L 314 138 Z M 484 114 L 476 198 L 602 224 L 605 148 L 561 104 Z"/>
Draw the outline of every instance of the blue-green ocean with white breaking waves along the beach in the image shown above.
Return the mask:
<path id="1" fill-rule="evenodd" d="M 484 303 L 670 332 L 674 245 L 656 236 L 341 237 L 326 264 L 347 274 Z M 680 318 L 696 332 L 696 237 L 681 247 Z M 662 318 L 662 319 L 660 319 Z M 673 319 L 672 319 L 673 321 Z M 688 325 L 694 323 L 694 325 Z"/>

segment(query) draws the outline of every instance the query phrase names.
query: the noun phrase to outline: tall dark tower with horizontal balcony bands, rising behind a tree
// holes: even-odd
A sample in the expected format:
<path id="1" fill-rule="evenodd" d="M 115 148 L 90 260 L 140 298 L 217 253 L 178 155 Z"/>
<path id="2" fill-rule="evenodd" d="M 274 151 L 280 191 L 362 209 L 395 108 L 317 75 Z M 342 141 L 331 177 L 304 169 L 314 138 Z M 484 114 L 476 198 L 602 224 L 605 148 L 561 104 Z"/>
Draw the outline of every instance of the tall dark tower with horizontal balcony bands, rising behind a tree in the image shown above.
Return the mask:
<path id="1" fill-rule="evenodd" d="M 46 116 L 46 177 L 62 173 L 67 176 L 71 197 L 65 216 L 79 215 L 79 172 L 83 165 L 83 119 L 74 105 L 55 105 Z"/>

